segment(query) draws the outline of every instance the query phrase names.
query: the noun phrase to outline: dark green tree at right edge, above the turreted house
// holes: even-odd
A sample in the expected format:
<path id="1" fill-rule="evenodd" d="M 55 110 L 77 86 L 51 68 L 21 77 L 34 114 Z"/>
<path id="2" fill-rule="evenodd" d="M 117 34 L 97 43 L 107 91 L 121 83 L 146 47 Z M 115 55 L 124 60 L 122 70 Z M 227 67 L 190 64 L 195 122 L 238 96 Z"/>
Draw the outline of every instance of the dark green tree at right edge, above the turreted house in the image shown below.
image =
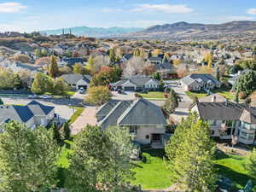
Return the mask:
<path id="1" fill-rule="evenodd" d="M 233 85 L 233 90 L 237 92 L 244 92 L 246 96 L 250 95 L 256 89 L 256 74 L 253 70 L 241 74 Z"/>

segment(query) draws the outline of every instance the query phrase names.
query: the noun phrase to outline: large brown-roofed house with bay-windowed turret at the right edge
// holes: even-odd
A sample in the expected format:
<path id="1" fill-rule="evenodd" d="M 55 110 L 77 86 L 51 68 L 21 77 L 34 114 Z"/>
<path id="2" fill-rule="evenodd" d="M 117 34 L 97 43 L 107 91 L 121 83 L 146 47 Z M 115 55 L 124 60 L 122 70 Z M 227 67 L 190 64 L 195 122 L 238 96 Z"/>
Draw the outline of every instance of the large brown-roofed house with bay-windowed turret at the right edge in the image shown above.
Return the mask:
<path id="1" fill-rule="evenodd" d="M 256 108 L 234 102 L 197 102 L 191 109 L 208 121 L 212 137 L 253 144 L 256 132 Z"/>

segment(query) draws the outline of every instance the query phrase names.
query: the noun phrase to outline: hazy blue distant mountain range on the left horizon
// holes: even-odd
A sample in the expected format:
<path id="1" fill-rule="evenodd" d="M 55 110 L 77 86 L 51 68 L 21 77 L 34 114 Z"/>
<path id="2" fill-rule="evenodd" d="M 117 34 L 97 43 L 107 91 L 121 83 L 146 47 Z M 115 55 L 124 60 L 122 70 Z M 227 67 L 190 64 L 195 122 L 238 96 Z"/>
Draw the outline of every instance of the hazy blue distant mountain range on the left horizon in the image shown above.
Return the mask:
<path id="1" fill-rule="evenodd" d="M 96 38 L 108 38 L 108 37 L 116 37 L 119 35 L 125 35 L 132 32 L 142 31 L 143 28 L 125 28 L 125 27 L 88 27 L 88 26 L 76 26 L 71 28 L 65 28 L 64 32 L 69 33 L 71 30 L 73 35 L 84 35 L 87 37 L 96 37 Z M 61 35 L 63 33 L 63 29 L 55 29 L 55 30 L 46 30 L 42 31 L 42 34 L 47 35 Z"/>

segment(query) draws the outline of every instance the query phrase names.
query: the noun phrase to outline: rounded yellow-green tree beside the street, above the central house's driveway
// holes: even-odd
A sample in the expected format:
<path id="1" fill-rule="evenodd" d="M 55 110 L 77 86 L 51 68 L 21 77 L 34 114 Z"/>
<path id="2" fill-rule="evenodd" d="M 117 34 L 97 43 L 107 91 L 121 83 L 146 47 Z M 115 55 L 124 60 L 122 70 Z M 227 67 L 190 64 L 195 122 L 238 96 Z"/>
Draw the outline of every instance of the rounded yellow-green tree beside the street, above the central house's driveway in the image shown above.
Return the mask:
<path id="1" fill-rule="evenodd" d="M 106 86 L 95 86 L 88 89 L 85 102 L 100 106 L 111 99 L 111 91 Z"/>

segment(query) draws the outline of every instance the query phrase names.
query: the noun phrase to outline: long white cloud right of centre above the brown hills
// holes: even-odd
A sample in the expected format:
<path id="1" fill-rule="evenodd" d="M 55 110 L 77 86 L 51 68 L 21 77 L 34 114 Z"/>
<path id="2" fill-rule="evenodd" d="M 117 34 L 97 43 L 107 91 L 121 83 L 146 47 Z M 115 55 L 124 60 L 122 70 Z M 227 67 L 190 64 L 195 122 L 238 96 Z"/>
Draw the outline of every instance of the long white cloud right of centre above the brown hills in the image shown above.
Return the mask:
<path id="1" fill-rule="evenodd" d="M 137 5 L 137 8 L 131 9 L 131 11 L 157 11 L 167 14 L 187 14 L 194 10 L 183 4 L 140 4 Z"/>

